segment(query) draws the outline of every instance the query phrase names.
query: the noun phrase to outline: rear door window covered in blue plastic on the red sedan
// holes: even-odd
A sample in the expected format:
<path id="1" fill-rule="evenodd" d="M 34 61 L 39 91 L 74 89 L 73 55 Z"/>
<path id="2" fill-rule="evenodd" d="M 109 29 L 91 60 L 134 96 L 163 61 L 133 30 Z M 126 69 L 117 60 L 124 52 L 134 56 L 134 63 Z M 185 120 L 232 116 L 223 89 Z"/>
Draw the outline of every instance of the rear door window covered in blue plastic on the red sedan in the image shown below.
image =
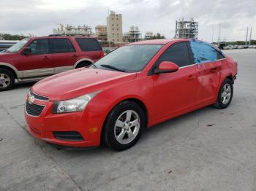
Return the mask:
<path id="1" fill-rule="evenodd" d="M 190 47 L 194 55 L 195 63 L 205 63 L 219 59 L 219 52 L 210 44 L 192 40 Z"/>

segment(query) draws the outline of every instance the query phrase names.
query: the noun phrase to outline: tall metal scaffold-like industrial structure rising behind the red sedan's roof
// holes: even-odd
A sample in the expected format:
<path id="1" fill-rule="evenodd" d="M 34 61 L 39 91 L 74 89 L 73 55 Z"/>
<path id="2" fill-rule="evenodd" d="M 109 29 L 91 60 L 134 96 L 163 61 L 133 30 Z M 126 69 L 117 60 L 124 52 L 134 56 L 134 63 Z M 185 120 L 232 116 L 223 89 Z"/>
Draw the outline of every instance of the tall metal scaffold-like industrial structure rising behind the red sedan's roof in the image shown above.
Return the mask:
<path id="1" fill-rule="evenodd" d="M 174 38 L 176 39 L 197 39 L 198 23 L 193 18 L 184 20 L 181 18 L 176 20 L 176 32 Z"/>

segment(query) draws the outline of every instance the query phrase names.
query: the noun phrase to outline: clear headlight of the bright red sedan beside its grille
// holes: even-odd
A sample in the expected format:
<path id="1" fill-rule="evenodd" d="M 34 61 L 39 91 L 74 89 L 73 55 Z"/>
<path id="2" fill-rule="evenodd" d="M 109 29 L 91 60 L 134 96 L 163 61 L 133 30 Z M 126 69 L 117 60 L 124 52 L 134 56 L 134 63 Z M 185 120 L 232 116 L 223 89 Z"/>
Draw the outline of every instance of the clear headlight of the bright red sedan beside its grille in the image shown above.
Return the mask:
<path id="1" fill-rule="evenodd" d="M 82 95 L 78 98 L 73 98 L 65 101 L 55 101 L 53 104 L 53 113 L 80 112 L 85 109 L 91 99 L 100 91 Z"/>

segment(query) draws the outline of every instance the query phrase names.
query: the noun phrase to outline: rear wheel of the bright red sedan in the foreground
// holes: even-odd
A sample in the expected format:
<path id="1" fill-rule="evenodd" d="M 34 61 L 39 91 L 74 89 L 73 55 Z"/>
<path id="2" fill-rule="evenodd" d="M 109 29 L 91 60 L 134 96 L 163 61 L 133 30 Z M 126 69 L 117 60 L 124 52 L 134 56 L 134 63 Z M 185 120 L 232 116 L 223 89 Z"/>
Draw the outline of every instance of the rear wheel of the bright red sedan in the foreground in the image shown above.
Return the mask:
<path id="1" fill-rule="evenodd" d="M 218 109 L 225 109 L 230 105 L 233 98 L 233 83 L 230 79 L 225 79 L 219 88 L 217 102 L 214 107 Z"/>

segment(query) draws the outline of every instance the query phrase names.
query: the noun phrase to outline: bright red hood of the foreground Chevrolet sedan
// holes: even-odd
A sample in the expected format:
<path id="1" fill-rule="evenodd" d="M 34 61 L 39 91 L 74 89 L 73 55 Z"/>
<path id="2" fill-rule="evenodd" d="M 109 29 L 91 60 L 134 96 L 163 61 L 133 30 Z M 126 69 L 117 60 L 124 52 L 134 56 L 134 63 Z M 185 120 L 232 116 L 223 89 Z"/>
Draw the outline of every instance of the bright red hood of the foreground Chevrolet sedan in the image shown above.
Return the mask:
<path id="1" fill-rule="evenodd" d="M 105 90 L 135 77 L 136 73 L 83 68 L 42 79 L 31 87 L 31 90 L 33 93 L 47 96 L 50 101 L 67 100 Z"/>

